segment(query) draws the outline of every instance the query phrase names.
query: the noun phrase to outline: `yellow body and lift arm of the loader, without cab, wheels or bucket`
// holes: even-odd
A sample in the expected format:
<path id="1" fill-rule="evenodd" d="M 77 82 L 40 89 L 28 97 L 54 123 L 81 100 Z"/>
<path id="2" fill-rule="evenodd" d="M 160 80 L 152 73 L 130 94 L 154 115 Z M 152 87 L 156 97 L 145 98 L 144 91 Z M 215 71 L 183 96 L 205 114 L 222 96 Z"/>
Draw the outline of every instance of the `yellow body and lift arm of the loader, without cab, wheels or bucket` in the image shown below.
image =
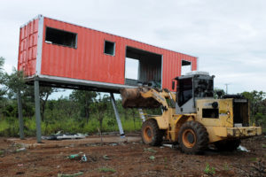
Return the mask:
<path id="1" fill-rule="evenodd" d="M 155 89 L 140 91 L 144 99 L 153 98 L 161 104 L 163 113 L 160 116 L 148 116 L 147 119 L 155 119 L 160 130 L 165 130 L 165 137 L 171 142 L 178 141 L 180 127 L 185 122 L 195 120 L 200 122 L 207 129 L 208 143 L 226 139 L 245 138 L 254 135 L 262 135 L 262 127 L 242 127 L 234 124 L 233 99 L 199 99 L 196 100 L 196 113 L 176 114 L 176 108 L 168 105 L 168 100 L 176 102 L 176 94 L 169 91 L 156 91 Z M 217 103 L 216 115 L 207 115 L 204 110 L 213 109 L 212 104 Z M 247 106 L 248 108 L 248 106 Z M 248 109 L 240 108 L 246 113 L 246 121 L 249 122 Z"/>

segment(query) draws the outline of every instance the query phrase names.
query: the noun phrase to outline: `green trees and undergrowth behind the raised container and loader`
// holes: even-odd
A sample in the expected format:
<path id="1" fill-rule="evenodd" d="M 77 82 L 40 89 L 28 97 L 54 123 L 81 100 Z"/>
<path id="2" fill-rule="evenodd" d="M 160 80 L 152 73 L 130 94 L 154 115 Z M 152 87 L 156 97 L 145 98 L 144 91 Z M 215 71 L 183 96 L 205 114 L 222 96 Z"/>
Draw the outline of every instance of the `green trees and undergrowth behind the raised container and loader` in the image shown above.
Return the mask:
<path id="1" fill-rule="evenodd" d="M 40 87 L 42 134 L 50 135 L 59 130 L 69 133 L 97 133 L 118 131 L 109 94 L 88 90 L 73 90 L 69 96 L 49 99 L 52 93 L 64 91 Z M 223 92 L 224 93 L 224 92 Z M 27 85 L 23 73 L 13 69 L 4 71 L 4 58 L 0 58 L 0 135 L 18 135 L 18 94 L 22 100 L 24 130 L 35 135 L 35 92 Z M 249 99 L 250 117 L 256 125 L 266 126 L 265 92 L 241 93 Z M 142 125 L 137 109 L 123 109 L 121 99 L 116 100 L 125 131 L 139 130 Z M 148 114 L 160 114 L 160 110 L 145 110 Z"/>

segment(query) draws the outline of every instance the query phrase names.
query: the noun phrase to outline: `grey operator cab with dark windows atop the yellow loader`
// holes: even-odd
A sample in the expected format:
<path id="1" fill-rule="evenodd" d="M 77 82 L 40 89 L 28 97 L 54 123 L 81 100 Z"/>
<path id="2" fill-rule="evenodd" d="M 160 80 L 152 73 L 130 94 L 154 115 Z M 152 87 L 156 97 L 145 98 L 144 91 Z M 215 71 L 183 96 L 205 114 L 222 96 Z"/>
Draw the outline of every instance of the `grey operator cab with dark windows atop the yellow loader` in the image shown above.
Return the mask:
<path id="1" fill-rule="evenodd" d="M 214 78 L 214 75 L 198 71 L 176 77 L 176 114 L 196 112 L 197 99 L 213 98 Z"/>

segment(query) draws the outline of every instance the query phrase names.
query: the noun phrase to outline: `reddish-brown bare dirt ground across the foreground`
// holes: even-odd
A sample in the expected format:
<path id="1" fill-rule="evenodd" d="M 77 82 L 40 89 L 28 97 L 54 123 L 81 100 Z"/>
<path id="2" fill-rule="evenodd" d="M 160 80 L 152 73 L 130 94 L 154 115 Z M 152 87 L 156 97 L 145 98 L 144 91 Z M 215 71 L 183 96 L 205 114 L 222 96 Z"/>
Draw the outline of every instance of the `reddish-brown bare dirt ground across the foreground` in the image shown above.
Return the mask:
<path id="1" fill-rule="evenodd" d="M 21 148 L 20 144 L 0 137 L 0 175 L 266 176 L 266 137 L 246 139 L 241 145 L 250 151 L 210 149 L 203 155 L 186 155 L 178 148 L 150 147 L 139 141 L 43 146 L 16 151 Z M 80 157 L 67 158 L 78 153 L 85 154 L 87 162 L 82 162 Z"/>

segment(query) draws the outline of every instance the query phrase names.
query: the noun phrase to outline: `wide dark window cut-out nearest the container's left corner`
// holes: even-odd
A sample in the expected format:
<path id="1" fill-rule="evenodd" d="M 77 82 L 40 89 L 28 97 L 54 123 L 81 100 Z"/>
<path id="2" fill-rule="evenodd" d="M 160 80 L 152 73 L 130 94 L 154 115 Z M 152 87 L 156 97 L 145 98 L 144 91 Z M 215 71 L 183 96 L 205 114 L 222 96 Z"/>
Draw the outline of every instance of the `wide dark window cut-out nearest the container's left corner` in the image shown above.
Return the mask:
<path id="1" fill-rule="evenodd" d="M 76 48 L 77 35 L 68 31 L 46 27 L 45 42 Z"/>

